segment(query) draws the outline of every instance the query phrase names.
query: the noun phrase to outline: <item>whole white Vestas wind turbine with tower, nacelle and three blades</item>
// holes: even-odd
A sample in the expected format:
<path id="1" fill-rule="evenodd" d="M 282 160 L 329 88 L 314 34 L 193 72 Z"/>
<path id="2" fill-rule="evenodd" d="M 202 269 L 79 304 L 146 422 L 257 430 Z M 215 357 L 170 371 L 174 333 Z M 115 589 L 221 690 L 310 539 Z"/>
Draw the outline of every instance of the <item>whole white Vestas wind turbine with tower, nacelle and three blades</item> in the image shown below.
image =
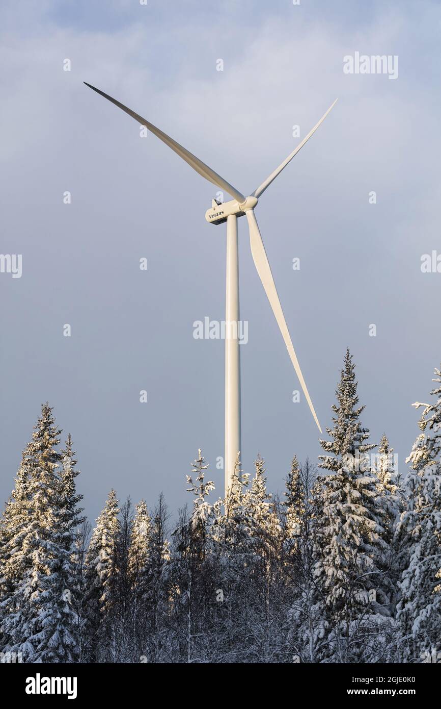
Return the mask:
<path id="1" fill-rule="evenodd" d="M 314 128 L 309 131 L 308 135 L 302 140 L 299 145 L 293 150 L 290 155 L 277 167 L 274 172 L 272 172 L 269 177 L 267 177 L 262 184 L 260 184 L 257 189 L 255 189 L 251 195 L 247 197 L 239 192 L 236 187 L 232 186 L 221 177 L 217 172 L 208 167 L 205 162 L 199 160 L 198 157 L 193 155 L 176 140 L 170 138 L 169 135 L 163 133 L 162 130 L 156 128 L 155 125 L 146 121 L 145 118 L 139 116 L 139 113 L 135 113 L 127 106 L 120 104 L 120 101 L 113 99 L 112 96 L 105 94 L 104 91 L 96 89 L 95 86 L 91 86 L 87 82 L 84 82 L 86 86 L 90 89 L 96 91 L 97 94 L 101 94 L 105 99 L 111 101 L 112 104 L 122 108 L 122 111 L 128 113 L 129 116 L 138 121 L 141 125 L 145 125 L 148 130 L 156 135 L 159 140 L 171 147 L 179 157 L 182 157 L 185 162 L 188 162 L 190 167 L 198 172 L 202 177 L 212 182 L 212 184 L 219 187 L 222 191 L 227 192 L 233 197 L 231 201 L 224 203 L 217 203 L 217 201 L 212 201 L 212 208 L 208 209 L 205 213 L 205 218 L 210 224 L 222 224 L 227 222 L 227 289 L 225 298 L 225 456 L 224 456 L 224 471 L 225 471 L 225 494 L 234 484 L 234 479 L 238 475 L 237 463 L 239 461 L 239 452 L 241 451 L 241 367 L 240 367 L 240 356 L 239 356 L 239 255 L 238 255 L 238 242 L 237 242 L 237 219 L 241 216 L 246 216 L 248 220 L 248 228 L 250 232 L 250 245 L 251 245 L 251 255 L 253 256 L 254 265 L 258 272 L 260 281 L 262 281 L 265 293 L 270 301 L 270 306 L 273 309 L 275 319 L 277 320 L 277 325 L 279 325 L 280 332 L 282 333 L 283 340 L 290 355 L 292 364 L 294 365 L 295 372 L 299 378 L 300 385 L 305 398 L 307 399 L 308 406 L 311 410 L 311 414 L 314 417 L 319 431 L 321 432 L 321 427 L 319 424 L 319 419 L 317 418 L 316 412 L 314 411 L 314 406 L 309 396 L 309 391 L 307 385 L 305 384 L 302 370 L 300 369 L 299 362 L 294 352 L 294 347 L 292 345 L 289 330 L 287 328 L 287 323 L 285 316 L 283 315 L 282 306 L 280 305 L 279 296 L 277 295 L 277 290 L 275 288 L 275 282 L 273 279 L 273 274 L 271 273 L 270 264 L 268 263 L 268 257 L 265 252 L 265 246 L 263 245 L 263 240 L 260 235 L 258 228 L 258 223 L 256 221 L 256 216 L 254 214 L 254 208 L 258 203 L 258 199 L 261 194 L 270 186 L 271 182 L 275 180 L 278 174 L 282 172 L 287 164 L 292 160 L 294 155 L 307 143 L 307 140 L 311 138 L 311 135 L 319 128 L 319 125 L 323 123 L 331 108 L 335 106 L 336 101 L 333 102 L 332 106 L 328 108 L 326 113 L 321 117 L 319 123 L 314 125 Z M 234 325 L 235 327 L 231 327 Z"/>

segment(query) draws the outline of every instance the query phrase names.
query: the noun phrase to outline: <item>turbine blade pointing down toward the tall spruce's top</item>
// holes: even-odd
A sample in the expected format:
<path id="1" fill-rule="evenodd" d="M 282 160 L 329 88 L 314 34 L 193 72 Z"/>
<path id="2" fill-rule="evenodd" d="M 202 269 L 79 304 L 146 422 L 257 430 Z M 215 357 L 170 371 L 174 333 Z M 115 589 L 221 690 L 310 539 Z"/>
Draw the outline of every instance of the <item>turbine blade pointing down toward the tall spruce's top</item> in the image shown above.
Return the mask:
<path id="1" fill-rule="evenodd" d="M 322 432 L 319 424 L 319 419 L 317 418 L 316 412 L 314 411 L 314 406 L 312 405 L 311 397 L 309 396 L 307 385 L 305 384 L 303 378 L 302 370 L 300 369 L 299 361 L 297 359 L 296 353 L 294 352 L 294 347 L 292 345 L 285 316 L 283 315 L 282 306 L 280 305 L 279 296 L 277 295 L 277 290 L 275 288 L 273 274 L 271 273 L 270 264 L 268 263 L 268 257 L 265 252 L 265 246 L 263 245 L 256 216 L 252 209 L 246 211 L 246 218 L 248 219 L 248 227 L 250 229 L 250 245 L 254 265 L 256 266 L 260 281 L 262 281 L 263 288 L 265 289 L 265 293 L 267 294 L 268 300 L 270 301 L 270 306 L 271 308 L 273 308 L 273 313 L 275 315 L 275 319 L 277 320 L 277 325 L 279 325 L 280 332 L 282 333 L 282 337 L 285 340 L 285 345 L 287 347 L 288 354 L 291 357 L 291 362 L 294 365 L 294 369 L 299 378 L 303 393 L 307 399 L 309 408 L 311 409 L 311 414 L 314 416 L 314 421 L 316 422 L 319 431 Z"/>

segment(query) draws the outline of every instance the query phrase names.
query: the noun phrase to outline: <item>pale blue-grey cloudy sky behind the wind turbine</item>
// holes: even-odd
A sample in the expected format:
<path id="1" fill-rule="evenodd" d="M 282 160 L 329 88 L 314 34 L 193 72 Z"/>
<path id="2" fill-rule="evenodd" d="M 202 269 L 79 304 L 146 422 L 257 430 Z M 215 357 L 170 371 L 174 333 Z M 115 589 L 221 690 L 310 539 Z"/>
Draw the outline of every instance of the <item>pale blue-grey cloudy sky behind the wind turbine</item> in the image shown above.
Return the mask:
<path id="1" fill-rule="evenodd" d="M 441 361 L 441 264 L 421 269 L 441 255 L 440 25 L 428 0 L 4 0 L 0 252 L 22 272 L 0 273 L 1 503 L 45 401 L 91 520 L 112 487 L 150 507 L 164 491 L 176 513 L 199 447 L 223 491 L 224 342 L 193 337 L 224 319 L 226 230 L 205 221 L 217 189 L 84 81 L 244 194 L 338 97 L 256 217 L 322 428 L 349 346 L 362 423 L 405 474 L 411 404 Z M 345 73 L 356 52 L 398 75 Z M 238 224 L 242 467 L 260 453 L 277 493 L 293 454 L 321 447 Z"/>

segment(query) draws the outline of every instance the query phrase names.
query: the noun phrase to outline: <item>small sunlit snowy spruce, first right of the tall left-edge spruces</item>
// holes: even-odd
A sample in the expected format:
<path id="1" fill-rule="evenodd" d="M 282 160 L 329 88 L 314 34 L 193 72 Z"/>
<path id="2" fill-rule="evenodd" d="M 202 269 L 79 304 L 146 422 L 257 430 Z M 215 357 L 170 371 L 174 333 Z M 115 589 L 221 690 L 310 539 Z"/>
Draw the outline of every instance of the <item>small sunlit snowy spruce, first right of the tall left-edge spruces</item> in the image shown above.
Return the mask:
<path id="1" fill-rule="evenodd" d="M 110 490 L 104 509 L 96 519 L 86 554 L 86 598 L 88 662 L 103 657 L 117 659 L 113 632 L 113 610 L 118 574 L 117 544 L 120 535 L 119 503 L 115 490 Z"/>

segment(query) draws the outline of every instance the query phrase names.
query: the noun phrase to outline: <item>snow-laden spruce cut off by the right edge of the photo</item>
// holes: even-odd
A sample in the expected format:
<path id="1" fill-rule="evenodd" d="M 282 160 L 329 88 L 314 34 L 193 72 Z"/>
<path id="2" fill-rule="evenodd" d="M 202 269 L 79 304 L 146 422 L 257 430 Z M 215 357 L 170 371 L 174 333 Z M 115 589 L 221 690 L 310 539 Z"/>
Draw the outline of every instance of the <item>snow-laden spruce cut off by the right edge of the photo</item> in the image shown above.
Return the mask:
<path id="1" fill-rule="evenodd" d="M 440 645 L 441 369 L 435 369 L 433 381 L 435 401 L 413 404 L 424 407 L 421 433 L 406 461 L 411 464 L 404 481 L 406 509 L 397 527 L 397 536 L 407 549 L 398 604 L 404 661 L 424 660 Z"/>

